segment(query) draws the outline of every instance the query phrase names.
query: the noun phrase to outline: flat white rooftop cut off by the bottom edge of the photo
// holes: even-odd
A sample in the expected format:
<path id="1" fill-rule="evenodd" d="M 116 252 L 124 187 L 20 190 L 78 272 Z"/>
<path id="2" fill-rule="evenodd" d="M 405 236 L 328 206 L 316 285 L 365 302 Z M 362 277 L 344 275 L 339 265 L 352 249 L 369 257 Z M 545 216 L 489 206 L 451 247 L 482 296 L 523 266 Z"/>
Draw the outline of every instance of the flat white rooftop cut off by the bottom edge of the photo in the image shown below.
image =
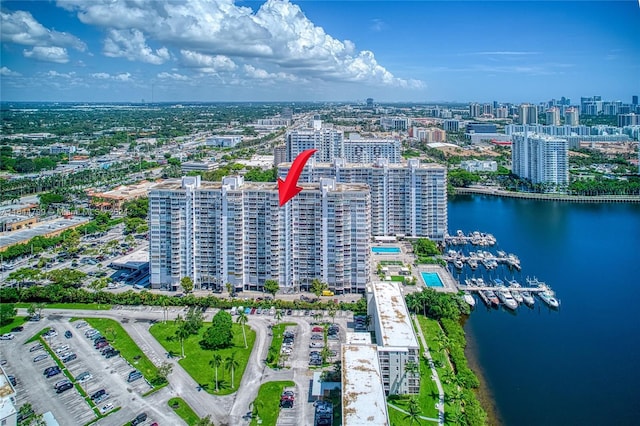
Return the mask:
<path id="1" fill-rule="evenodd" d="M 374 345 L 342 346 L 342 424 L 389 425 L 387 398 Z"/>

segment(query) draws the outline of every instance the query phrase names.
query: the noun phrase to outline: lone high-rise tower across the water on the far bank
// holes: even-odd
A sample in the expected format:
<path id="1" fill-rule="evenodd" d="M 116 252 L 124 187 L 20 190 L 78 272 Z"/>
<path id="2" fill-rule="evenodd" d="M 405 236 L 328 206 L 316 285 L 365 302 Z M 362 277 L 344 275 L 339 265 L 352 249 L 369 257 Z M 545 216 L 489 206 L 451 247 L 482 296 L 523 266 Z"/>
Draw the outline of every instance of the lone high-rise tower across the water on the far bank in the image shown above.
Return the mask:
<path id="1" fill-rule="evenodd" d="M 513 173 L 532 183 L 562 189 L 569 183 L 568 142 L 538 133 L 512 135 Z"/>

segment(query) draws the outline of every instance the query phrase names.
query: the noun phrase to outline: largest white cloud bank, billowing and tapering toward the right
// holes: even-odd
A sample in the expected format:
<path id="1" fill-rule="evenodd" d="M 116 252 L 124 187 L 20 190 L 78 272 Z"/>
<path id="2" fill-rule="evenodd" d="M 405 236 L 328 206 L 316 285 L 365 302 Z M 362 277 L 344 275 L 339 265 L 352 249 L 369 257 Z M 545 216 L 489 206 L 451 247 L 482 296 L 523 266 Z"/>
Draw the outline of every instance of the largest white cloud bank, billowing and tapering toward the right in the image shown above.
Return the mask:
<path id="1" fill-rule="evenodd" d="M 377 62 L 373 52 L 358 51 L 353 42 L 325 33 L 289 0 L 267 0 L 255 12 L 234 0 L 58 0 L 58 5 L 77 12 L 83 23 L 104 28 L 113 42 L 109 48 L 105 45 L 105 54 L 113 56 L 146 58 L 147 62 L 167 60 L 167 55 L 159 50 L 153 53 L 148 47 L 146 55 L 133 54 L 140 46 L 124 48 L 124 42 L 113 37 L 125 32 L 131 41 L 144 33 L 149 40 L 180 49 L 183 64 L 202 72 L 230 72 L 236 63 L 243 63 L 303 80 L 423 87 L 419 81 L 394 76 Z M 222 67 L 220 63 L 202 63 L 216 62 L 210 58 L 226 58 L 228 62 Z"/>

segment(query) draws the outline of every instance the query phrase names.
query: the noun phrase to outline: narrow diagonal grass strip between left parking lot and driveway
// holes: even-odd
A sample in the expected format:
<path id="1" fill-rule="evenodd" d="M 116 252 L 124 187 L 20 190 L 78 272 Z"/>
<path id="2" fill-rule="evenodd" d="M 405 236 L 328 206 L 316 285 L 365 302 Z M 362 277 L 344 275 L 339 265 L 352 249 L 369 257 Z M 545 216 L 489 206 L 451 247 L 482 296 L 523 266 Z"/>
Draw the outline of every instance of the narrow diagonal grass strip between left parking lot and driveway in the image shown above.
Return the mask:
<path id="1" fill-rule="evenodd" d="M 142 352 L 140 347 L 129 337 L 127 332 L 115 320 L 109 318 L 82 318 L 91 327 L 95 328 L 107 338 L 111 346 L 120 351 L 120 356 L 129 361 L 129 364 L 135 366 L 148 381 L 152 381 L 158 375 L 158 369 Z M 107 329 L 111 328 L 115 332 L 115 336 Z M 115 338 L 114 338 L 115 337 Z"/>

